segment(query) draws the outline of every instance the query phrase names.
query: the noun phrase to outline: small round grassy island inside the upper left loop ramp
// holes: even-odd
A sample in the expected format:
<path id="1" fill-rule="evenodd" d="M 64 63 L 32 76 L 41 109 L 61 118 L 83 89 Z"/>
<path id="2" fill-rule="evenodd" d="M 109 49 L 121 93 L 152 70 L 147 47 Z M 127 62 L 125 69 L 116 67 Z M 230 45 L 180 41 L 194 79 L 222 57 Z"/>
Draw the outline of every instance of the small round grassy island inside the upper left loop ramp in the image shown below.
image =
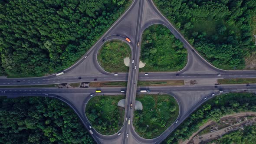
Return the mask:
<path id="1" fill-rule="evenodd" d="M 131 57 L 130 47 L 119 40 L 107 42 L 98 52 L 98 62 L 107 72 L 128 72 L 124 58 Z"/>

